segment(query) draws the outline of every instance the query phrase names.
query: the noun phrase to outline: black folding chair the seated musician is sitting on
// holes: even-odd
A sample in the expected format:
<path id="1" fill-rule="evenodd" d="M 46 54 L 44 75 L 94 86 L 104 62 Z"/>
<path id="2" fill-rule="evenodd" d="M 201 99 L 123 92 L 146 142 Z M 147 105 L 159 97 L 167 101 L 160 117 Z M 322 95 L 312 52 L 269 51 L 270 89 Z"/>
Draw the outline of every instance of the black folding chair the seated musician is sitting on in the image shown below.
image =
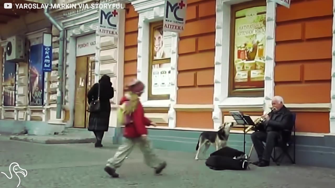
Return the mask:
<path id="1" fill-rule="evenodd" d="M 273 149 L 273 156 L 271 156 L 271 159 L 278 166 L 281 164 L 285 156 L 287 156 L 287 158 L 291 161 L 292 164 L 295 164 L 295 113 L 293 113 L 292 118 L 293 118 L 293 127 L 292 127 L 293 137 L 292 137 L 292 130 L 284 130 L 282 133 L 282 138 L 277 141 Z M 292 145 L 293 145 L 293 159 L 289 154 L 289 148 Z M 281 153 L 278 157 L 276 157 L 276 148 L 281 149 Z"/>

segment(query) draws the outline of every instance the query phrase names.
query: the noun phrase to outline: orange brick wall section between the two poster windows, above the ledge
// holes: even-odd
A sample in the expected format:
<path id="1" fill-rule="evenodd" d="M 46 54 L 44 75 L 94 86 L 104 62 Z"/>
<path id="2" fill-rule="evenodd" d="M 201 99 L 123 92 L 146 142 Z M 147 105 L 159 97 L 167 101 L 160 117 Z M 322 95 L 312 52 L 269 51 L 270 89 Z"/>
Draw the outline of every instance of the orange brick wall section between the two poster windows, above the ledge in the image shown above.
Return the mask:
<path id="1" fill-rule="evenodd" d="M 187 3 L 185 30 L 179 35 L 177 103 L 212 104 L 215 0 L 189 0 Z"/>

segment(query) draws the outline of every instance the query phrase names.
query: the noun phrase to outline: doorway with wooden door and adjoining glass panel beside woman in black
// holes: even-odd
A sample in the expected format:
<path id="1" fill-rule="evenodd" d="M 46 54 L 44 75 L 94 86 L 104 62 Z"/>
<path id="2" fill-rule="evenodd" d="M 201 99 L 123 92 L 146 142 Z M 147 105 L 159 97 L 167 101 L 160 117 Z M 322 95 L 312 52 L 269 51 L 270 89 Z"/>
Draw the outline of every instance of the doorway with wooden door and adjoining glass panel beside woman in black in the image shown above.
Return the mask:
<path id="1" fill-rule="evenodd" d="M 86 95 L 94 84 L 94 67 L 94 55 L 76 58 L 73 122 L 73 127 L 76 128 L 87 128 L 89 113 Z"/>

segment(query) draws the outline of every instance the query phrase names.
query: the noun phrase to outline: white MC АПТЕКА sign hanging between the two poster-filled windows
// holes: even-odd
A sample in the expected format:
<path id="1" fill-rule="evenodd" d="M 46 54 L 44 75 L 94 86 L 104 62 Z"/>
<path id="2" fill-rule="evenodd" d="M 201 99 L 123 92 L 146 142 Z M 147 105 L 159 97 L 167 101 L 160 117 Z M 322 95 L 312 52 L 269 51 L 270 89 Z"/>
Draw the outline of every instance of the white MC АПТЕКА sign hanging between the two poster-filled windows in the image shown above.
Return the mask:
<path id="1" fill-rule="evenodd" d="M 186 21 L 187 0 L 165 0 L 163 31 L 182 32 Z"/>

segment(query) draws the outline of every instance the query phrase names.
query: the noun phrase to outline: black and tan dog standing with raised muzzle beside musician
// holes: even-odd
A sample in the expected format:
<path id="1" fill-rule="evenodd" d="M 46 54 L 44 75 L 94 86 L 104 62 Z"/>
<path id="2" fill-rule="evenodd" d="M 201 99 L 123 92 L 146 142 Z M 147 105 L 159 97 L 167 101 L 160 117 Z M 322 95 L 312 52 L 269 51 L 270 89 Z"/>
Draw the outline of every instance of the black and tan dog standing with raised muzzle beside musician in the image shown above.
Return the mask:
<path id="1" fill-rule="evenodd" d="M 225 122 L 223 125 L 219 127 L 219 130 L 217 132 L 214 131 L 202 132 L 199 136 L 197 147 L 195 148 L 195 150 L 197 151 L 195 160 L 199 160 L 198 158 L 199 151 L 203 146 L 205 146 L 205 149 L 202 152 L 203 155 L 206 154 L 211 144 L 216 146 L 216 151 L 225 147 L 229 137 L 230 127 L 232 127 L 233 125 L 234 122 Z"/>

